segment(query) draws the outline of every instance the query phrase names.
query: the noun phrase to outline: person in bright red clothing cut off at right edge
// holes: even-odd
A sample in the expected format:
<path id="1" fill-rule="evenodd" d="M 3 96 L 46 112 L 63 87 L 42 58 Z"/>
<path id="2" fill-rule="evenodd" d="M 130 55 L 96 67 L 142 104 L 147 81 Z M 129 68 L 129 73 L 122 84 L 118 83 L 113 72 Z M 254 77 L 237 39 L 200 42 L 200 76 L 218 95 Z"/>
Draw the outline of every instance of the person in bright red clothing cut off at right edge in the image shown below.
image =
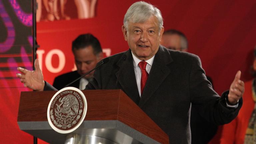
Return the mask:
<path id="1" fill-rule="evenodd" d="M 245 82 L 244 105 L 232 122 L 223 125 L 221 144 L 256 143 L 256 46 L 252 69 L 254 79 Z"/>

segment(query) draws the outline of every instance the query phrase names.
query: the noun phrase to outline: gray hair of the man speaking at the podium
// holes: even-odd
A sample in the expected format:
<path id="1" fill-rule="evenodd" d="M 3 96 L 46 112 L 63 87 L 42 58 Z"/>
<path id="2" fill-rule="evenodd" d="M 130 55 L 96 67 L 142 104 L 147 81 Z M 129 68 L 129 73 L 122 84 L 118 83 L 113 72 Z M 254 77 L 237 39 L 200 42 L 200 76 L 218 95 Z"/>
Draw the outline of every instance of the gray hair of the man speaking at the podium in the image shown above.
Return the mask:
<path id="1" fill-rule="evenodd" d="M 159 32 L 163 27 L 163 17 L 161 11 L 155 6 L 140 1 L 132 4 L 124 15 L 124 27 L 128 29 L 128 22 L 140 23 L 147 21 L 151 16 L 158 20 Z"/>

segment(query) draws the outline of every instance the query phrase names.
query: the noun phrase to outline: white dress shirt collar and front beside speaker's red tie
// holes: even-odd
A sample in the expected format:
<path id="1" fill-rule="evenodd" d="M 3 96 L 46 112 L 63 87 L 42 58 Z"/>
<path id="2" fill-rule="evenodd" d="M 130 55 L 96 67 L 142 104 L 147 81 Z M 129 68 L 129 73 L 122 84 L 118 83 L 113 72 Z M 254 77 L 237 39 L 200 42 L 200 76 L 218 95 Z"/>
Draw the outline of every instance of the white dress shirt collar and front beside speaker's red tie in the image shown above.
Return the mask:
<path id="1" fill-rule="evenodd" d="M 133 57 L 133 66 L 134 66 L 134 72 L 135 72 L 136 82 L 137 82 L 137 86 L 138 86 L 138 91 L 141 96 L 141 92 L 140 92 L 141 70 L 140 70 L 140 67 L 138 64 L 142 60 L 138 59 L 133 53 L 132 53 L 132 57 Z M 145 62 L 147 62 L 146 71 L 148 72 L 148 74 L 150 72 L 154 58 L 155 58 L 155 56 L 153 56 L 149 60 L 145 61 Z"/>

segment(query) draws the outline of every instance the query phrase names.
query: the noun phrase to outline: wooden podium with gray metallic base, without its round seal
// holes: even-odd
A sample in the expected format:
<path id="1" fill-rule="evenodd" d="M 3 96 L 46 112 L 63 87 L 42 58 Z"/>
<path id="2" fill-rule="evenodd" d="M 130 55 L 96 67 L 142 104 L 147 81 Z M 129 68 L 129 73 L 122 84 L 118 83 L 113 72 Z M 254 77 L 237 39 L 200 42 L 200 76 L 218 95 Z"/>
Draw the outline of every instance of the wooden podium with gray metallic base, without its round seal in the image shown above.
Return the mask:
<path id="1" fill-rule="evenodd" d="M 114 144 L 169 144 L 168 135 L 122 90 L 83 90 L 88 104 L 83 123 L 71 133 L 58 133 L 47 120 L 47 107 L 56 92 L 21 92 L 18 113 L 21 130 L 54 144 L 78 137 L 87 142 L 86 139 L 97 137 Z"/>

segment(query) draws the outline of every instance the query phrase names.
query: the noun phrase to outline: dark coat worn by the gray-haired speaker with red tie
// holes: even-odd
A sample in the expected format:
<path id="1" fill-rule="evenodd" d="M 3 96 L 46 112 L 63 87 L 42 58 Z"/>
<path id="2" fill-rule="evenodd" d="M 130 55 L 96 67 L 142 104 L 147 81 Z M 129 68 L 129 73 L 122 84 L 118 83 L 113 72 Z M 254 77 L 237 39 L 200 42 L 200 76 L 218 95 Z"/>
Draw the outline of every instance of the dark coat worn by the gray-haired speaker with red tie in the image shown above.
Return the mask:
<path id="1" fill-rule="evenodd" d="M 170 143 L 191 143 L 191 103 L 217 125 L 234 119 L 242 105 L 228 108 L 205 77 L 198 56 L 160 46 L 141 98 L 135 79 L 131 50 L 109 57 L 94 72 L 87 89 L 122 89 L 162 130 Z"/>

